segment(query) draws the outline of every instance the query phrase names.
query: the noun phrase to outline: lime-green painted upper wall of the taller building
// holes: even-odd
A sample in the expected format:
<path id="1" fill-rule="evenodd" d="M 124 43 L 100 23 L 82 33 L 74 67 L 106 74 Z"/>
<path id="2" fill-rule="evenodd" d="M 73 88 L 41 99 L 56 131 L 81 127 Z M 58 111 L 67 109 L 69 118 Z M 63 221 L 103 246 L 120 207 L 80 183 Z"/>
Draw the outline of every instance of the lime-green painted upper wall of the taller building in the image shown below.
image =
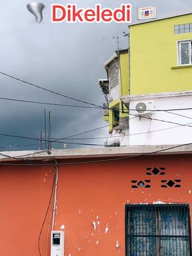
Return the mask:
<path id="1" fill-rule="evenodd" d="M 130 27 L 131 95 L 192 90 L 192 65 L 173 69 L 177 41 L 192 39 L 192 33 L 174 35 L 174 25 L 186 23 L 192 14 Z"/>

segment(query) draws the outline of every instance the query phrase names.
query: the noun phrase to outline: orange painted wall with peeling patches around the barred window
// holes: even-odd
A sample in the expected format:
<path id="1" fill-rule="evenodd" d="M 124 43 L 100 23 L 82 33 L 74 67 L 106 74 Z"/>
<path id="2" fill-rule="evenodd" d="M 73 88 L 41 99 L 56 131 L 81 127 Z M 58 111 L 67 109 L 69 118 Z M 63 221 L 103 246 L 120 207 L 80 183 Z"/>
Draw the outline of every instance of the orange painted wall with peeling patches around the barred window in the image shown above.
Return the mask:
<path id="1" fill-rule="evenodd" d="M 146 175 L 145 169 L 154 166 L 165 167 L 166 175 Z M 49 202 L 54 167 L 0 168 L 1 255 L 38 255 L 38 234 Z M 65 256 L 125 255 L 125 204 L 191 204 L 191 168 L 191 155 L 59 166 L 54 227 L 60 230 L 65 225 Z M 151 188 L 131 188 L 131 180 L 144 179 L 151 180 Z M 162 179 L 180 179 L 181 188 L 161 188 Z M 49 220 L 50 212 L 40 243 L 42 256 L 46 255 L 47 241 L 50 246 Z"/>

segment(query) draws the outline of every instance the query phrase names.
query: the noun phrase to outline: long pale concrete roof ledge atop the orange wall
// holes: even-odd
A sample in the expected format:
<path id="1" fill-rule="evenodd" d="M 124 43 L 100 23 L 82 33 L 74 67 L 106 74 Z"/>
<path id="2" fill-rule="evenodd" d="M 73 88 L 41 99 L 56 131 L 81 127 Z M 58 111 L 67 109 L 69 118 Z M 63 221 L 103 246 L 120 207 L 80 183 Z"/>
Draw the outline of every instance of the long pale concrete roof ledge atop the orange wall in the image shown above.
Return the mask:
<path id="1" fill-rule="evenodd" d="M 170 148 L 170 149 L 169 149 Z M 192 154 L 192 145 L 150 145 L 129 147 L 106 147 L 106 148 L 76 148 L 76 149 L 53 149 L 51 154 L 47 151 L 8 151 L 0 152 L 0 161 L 29 160 L 54 160 L 54 159 L 79 159 L 79 158 L 102 158 L 138 155 L 170 155 Z"/>

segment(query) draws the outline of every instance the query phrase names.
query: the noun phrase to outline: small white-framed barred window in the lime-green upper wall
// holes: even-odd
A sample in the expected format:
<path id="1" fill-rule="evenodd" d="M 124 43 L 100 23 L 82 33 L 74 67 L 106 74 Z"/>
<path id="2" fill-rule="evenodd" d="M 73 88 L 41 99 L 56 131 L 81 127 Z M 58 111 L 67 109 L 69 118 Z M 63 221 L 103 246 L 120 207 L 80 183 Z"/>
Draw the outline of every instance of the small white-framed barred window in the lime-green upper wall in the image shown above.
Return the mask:
<path id="1" fill-rule="evenodd" d="M 179 65 L 192 65 L 192 40 L 178 42 Z"/>

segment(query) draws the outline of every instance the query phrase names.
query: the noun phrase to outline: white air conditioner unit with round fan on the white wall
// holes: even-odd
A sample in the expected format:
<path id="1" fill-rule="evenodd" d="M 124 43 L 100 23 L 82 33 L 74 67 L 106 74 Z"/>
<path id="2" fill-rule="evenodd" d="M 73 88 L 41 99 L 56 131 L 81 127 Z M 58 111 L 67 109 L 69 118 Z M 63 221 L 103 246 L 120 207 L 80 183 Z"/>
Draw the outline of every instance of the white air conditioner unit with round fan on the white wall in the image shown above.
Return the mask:
<path id="1" fill-rule="evenodd" d="M 132 109 L 133 115 L 138 116 L 150 116 L 154 113 L 155 103 L 153 100 L 143 100 L 134 102 L 134 108 Z"/>

